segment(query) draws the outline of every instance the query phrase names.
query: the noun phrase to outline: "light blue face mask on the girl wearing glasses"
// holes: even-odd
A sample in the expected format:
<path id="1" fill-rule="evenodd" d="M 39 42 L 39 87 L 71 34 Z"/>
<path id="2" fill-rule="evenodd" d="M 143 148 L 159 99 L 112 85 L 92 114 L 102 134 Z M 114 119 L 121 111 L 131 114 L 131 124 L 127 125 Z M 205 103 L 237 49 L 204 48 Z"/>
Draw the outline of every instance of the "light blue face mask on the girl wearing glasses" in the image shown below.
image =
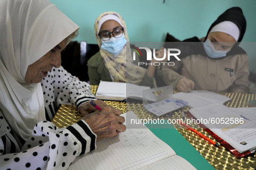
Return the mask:
<path id="1" fill-rule="evenodd" d="M 107 50 L 110 54 L 117 56 L 122 50 L 127 40 L 124 35 L 120 38 L 112 37 L 107 41 L 104 41 L 104 38 L 101 39 L 101 49 Z"/>

